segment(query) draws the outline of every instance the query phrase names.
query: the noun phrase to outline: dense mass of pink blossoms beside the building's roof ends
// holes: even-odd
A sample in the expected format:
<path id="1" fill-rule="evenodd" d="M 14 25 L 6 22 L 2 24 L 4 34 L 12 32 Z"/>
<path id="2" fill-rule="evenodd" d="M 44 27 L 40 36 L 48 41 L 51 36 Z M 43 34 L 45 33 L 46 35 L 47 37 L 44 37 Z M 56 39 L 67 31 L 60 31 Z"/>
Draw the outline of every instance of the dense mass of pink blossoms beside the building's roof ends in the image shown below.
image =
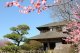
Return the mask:
<path id="1" fill-rule="evenodd" d="M 67 29 L 71 29 L 71 31 L 69 32 L 69 37 L 67 37 L 66 39 L 68 41 L 70 40 L 71 42 L 75 44 L 79 43 L 80 42 L 80 22 L 76 21 L 76 22 L 69 23 L 67 25 Z"/>

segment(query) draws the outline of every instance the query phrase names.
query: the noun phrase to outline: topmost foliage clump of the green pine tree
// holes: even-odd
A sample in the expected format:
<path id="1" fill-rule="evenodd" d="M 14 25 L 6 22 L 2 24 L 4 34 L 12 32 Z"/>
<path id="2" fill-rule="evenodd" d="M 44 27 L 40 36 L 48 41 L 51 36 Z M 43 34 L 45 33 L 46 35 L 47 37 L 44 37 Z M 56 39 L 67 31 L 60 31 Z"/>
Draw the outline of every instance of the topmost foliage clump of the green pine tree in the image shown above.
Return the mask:
<path id="1" fill-rule="evenodd" d="M 28 34 L 27 30 L 30 30 L 27 25 L 18 25 L 17 27 L 10 28 L 11 31 L 17 32 L 20 35 Z"/>

